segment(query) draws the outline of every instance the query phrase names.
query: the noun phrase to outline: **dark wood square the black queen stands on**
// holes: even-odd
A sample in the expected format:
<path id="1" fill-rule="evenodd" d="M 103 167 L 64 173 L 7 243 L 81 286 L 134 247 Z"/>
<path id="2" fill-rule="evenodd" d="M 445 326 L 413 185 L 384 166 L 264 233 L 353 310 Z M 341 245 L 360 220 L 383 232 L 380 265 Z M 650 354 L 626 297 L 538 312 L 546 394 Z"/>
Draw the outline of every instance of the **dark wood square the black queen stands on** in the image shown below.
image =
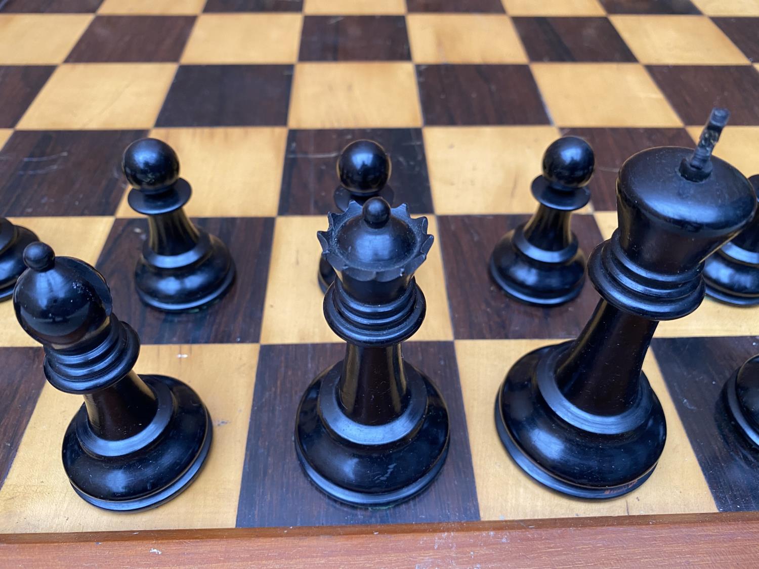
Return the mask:
<path id="1" fill-rule="evenodd" d="M 433 483 L 415 498 L 384 509 L 353 508 L 323 495 L 307 479 L 295 455 L 295 410 L 311 380 L 344 357 L 345 344 L 263 345 L 250 413 L 238 527 L 479 519 L 453 343 L 410 342 L 403 351 L 405 360 L 427 374 L 448 404 L 450 449 Z"/>

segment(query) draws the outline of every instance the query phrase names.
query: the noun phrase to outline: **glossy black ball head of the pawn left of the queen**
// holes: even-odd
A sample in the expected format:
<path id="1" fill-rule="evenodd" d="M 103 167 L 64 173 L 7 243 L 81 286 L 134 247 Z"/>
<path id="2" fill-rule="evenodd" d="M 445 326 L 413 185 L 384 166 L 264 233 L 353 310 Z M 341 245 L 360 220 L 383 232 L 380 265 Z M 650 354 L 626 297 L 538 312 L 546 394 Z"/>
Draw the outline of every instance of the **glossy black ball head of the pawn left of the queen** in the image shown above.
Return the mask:
<path id="1" fill-rule="evenodd" d="M 179 178 L 179 159 L 171 146 L 155 138 L 135 140 L 121 159 L 129 183 L 138 190 L 160 190 Z"/>

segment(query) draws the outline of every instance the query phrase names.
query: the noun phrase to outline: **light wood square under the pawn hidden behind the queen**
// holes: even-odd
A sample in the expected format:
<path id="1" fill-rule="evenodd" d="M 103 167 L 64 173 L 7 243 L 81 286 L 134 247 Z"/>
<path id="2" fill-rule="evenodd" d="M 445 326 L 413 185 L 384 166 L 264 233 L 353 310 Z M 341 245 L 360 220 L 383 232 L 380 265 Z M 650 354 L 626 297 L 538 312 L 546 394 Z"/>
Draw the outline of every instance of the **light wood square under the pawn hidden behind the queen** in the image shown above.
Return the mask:
<path id="1" fill-rule="evenodd" d="M 427 219 L 429 233 L 436 235 L 436 219 L 431 215 Z M 262 344 L 341 341 L 324 319 L 324 295 L 317 282 L 321 256 L 317 231 L 326 230 L 327 225 L 327 218 L 322 215 L 276 219 L 263 304 Z M 439 243 L 433 244 L 427 260 L 417 271 L 417 283 L 427 299 L 427 317 L 411 340 L 452 340 Z"/>

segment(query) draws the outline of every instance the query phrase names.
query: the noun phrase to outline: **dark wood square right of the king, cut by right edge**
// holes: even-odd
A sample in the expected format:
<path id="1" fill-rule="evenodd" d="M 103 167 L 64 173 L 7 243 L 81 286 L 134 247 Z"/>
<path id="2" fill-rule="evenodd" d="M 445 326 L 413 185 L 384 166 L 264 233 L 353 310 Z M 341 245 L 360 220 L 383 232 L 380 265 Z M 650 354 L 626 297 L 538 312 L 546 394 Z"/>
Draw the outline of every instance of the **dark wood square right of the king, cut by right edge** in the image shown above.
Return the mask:
<path id="1" fill-rule="evenodd" d="M 759 450 L 723 398 L 725 382 L 759 352 L 759 336 L 654 338 L 652 346 L 717 508 L 759 510 Z"/>

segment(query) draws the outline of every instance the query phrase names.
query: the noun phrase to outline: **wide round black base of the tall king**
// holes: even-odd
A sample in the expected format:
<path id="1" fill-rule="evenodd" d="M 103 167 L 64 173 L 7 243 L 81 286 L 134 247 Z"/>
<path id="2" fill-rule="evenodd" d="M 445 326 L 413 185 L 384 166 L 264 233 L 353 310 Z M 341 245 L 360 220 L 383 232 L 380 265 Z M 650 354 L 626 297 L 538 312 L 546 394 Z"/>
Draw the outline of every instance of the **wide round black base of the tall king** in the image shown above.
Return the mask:
<path id="1" fill-rule="evenodd" d="M 576 498 L 616 498 L 653 473 L 666 440 L 664 413 L 642 374 L 638 404 L 618 416 L 586 413 L 560 394 L 557 400 L 550 369 L 569 344 L 540 348 L 512 366 L 496 397 L 496 429 L 515 463 L 543 486 Z"/>

